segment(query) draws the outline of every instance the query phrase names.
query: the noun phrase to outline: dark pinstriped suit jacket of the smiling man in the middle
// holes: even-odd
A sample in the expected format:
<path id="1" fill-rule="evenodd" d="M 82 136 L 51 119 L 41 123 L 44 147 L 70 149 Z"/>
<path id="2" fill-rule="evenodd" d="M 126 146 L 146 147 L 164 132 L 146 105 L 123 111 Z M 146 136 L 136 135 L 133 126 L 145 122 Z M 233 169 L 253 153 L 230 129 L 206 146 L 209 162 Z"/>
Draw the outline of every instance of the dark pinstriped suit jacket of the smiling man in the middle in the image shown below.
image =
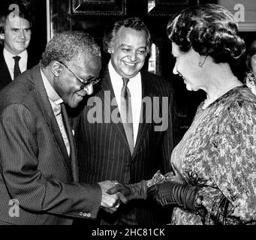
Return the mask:
<path id="1" fill-rule="evenodd" d="M 160 115 L 167 114 L 165 116 L 168 124 L 167 130 L 164 128 L 163 131 L 155 130 L 159 124 L 153 120 L 154 104 L 152 107 L 149 107 L 150 104 L 148 105 L 152 112 L 149 109 L 146 111 L 146 104 L 143 104 L 143 114 L 140 115 L 143 121 L 139 124 L 137 141 L 131 156 L 122 123 L 114 123 L 110 120 L 109 114 L 115 113 L 117 106 L 110 107 L 110 102 L 115 96 L 110 82 L 110 74 L 108 70 L 104 71 L 101 89 L 95 90 L 95 95 L 89 98 L 80 116 L 74 121 L 77 129 L 75 138 L 80 181 L 93 183 L 112 179 L 128 184 L 151 179 L 158 169 L 161 169 L 163 173 L 170 170 L 174 118 L 172 88 L 166 80 L 147 71 L 141 72 L 141 81 L 142 98 L 147 97 L 151 103 L 154 98 L 158 98 L 161 103 L 162 97 L 167 97 L 169 108 L 162 110 L 160 107 Z M 95 105 L 92 106 L 93 102 L 97 103 L 103 112 L 102 123 L 100 121 L 91 123 L 92 121 L 89 120 L 93 117 L 92 114 L 95 110 Z M 155 107 L 156 109 L 157 107 Z M 96 112 L 97 110 L 95 110 Z M 100 114 L 98 116 L 101 117 Z M 109 123 L 104 123 L 105 121 Z M 162 208 L 152 205 L 152 202 L 143 200 L 132 202 L 126 205 L 135 209 L 137 223 L 159 224 L 164 220 Z M 161 214 L 159 214 L 160 212 Z M 119 213 L 122 213 L 121 208 L 111 216 L 102 212 L 98 215 L 98 221 L 102 224 L 116 223 Z"/>

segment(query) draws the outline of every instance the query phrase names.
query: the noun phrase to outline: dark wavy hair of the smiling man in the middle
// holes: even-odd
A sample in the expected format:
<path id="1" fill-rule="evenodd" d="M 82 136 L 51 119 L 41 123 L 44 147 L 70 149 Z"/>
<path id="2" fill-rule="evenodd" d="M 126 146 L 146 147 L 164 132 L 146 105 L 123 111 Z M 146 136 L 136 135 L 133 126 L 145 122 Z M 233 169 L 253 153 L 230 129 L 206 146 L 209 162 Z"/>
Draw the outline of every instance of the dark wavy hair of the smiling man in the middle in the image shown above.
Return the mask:
<path id="1" fill-rule="evenodd" d="M 146 52 L 150 52 L 150 46 L 152 43 L 151 35 L 149 32 L 149 29 L 146 27 L 146 24 L 143 23 L 140 18 L 138 17 L 130 17 L 125 20 L 119 20 L 115 23 L 110 24 L 110 26 L 107 26 L 105 32 L 104 32 L 104 38 L 103 38 L 103 45 L 104 45 L 104 52 L 108 52 L 108 49 L 110 47 L 113 47 L 113 44 L 115 43 L 116 39 L 119 37 L 119 29 L 125 27 L 125 28 L 131 28 L 136 31 L 145 31 L 146 32 Z"/>

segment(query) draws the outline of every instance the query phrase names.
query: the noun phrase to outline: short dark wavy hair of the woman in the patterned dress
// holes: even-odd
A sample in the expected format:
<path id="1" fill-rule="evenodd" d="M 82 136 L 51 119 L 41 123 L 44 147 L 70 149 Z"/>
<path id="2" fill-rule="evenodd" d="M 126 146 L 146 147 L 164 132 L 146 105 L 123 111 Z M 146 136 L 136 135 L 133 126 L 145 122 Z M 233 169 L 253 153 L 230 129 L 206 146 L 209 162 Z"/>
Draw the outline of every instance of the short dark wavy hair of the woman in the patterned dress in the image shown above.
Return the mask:
<path id="1" fill-rule="evenodd" d="M 192 47 L 200 55 L 210 55 L 215 63 L 234 66 L 245 53 L 236 20 L 220 5 L 197 5 L 182 10 L 168 23 L 167 34 L 182 52 Z"/>

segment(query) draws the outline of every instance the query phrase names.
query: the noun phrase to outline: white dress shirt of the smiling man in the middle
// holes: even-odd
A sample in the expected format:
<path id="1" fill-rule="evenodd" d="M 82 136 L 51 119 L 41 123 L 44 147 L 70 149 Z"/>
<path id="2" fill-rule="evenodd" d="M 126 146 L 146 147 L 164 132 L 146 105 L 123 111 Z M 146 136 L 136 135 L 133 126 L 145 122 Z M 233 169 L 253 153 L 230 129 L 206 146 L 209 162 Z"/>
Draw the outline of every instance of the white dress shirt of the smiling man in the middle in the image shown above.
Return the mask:
<path id="1" fill-rule="evenodd" d="M 119 112 L 120 112 L 121 90 L 123 86 L 122 77 L 116 73 L 111 61 L 108 64 L 108 70 L 110 72 L 110 80 L 111 80 L 113 91 L 116 97 L 116 103 L 119 107 Z M 133 128 L 134 128 L 134 146 L 135 146 L 139 123 L 140 123 L 140 109 L 141 109 L 141 99 L 142 99 L 140 72 L 135 77 L 132 77 L 129 79 L 127 87 L 131 93 L 131 108 L 132 108 L 132 119 L 133 119 Z"/>

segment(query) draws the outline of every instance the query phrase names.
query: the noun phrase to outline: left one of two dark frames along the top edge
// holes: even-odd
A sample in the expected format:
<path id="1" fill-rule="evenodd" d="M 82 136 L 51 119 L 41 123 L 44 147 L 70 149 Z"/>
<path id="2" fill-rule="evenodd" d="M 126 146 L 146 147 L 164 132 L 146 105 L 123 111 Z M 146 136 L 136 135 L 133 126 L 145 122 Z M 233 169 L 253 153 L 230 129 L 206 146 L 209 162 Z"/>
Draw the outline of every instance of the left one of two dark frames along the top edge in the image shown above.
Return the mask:
<path id="1" fill-rule="evenodd" d="M 71 0 L 71 13 L 125 15 L 126 0 Z"/>

